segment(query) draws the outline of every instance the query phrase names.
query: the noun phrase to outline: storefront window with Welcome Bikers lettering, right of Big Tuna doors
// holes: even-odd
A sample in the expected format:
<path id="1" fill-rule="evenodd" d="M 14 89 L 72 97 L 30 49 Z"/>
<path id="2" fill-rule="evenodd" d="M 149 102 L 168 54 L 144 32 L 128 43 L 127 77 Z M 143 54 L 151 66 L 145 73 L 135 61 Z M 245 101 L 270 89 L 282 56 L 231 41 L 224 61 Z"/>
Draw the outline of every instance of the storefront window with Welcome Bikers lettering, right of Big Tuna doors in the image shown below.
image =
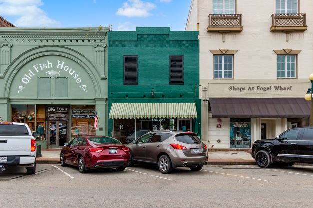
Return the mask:
<path id="1" fill-rule="evenodd" d="M 78 135 L 96 135 L 96 129 L 94 128 L 95 113 L 95 105 L 72 105 L 72 139 Z"/>

